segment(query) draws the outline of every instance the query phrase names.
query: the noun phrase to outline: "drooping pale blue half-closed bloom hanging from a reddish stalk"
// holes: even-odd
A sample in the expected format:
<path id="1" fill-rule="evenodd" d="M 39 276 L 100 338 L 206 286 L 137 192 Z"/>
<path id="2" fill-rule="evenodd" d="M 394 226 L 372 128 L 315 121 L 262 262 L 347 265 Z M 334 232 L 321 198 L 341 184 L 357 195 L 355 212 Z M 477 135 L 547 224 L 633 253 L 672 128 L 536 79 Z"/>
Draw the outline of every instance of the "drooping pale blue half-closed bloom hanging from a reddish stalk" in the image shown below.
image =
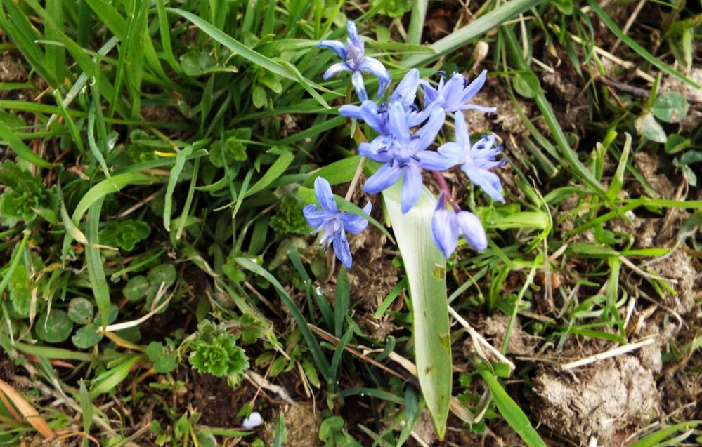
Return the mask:
<path id="1" fill-rule="evenodd" d="M 446 259 L 455 251 L 460 235 L 476 250 L 488 247 L 488 238 L 478 216 L 469 211 L 446 209 L 443 192 L 438 196 L 438 204 L 431 218 L 431 235 Z"/>

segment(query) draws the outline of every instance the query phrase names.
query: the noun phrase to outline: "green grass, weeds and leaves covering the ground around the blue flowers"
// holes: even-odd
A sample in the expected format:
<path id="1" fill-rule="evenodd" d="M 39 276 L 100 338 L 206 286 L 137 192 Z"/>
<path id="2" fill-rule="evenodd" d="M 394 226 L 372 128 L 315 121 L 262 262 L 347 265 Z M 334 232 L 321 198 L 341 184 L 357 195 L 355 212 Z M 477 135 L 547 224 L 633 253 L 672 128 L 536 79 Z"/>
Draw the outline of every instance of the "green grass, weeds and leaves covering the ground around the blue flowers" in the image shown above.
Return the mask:
<path id="1" fill-rule="evenodd" d="M 0 80 L 0 368 L 27 375 L 26 399 L 82 445 L 71 432 L 78 420 L 111 446 L 287 445 L 297 432 L 275 401 L 280 389 L 316 406 L 323 429 L 310 434 L 327 446 L 400 446 L 424 410 L 454 443 L 457 432 L 479 442 L 507 426 L 530 446 L 562 441 L 531 405 L 538 358 L 565 363 L 572 345 L 581 357 L 625 345 L 644 336 L 639 318 L 654 315 L 663 332 L 699 306 L 693 294 L 693 309 L 677 308 L 684 279 L 656 267 L 682 253 L 698 271 L 702 253 L 702 132 L 679 124 L 699 113 L 683 90 L 695 85 L 685 68 L 698 62 L 699 14 L 684 2 L 648 2 L 641 14 L 624 32 L 629 15 L 594 1 L 488 0 L 465 11 L 443 1 L 2 2 L 2 63 L 23 79 Z M 476 102 L 510 120 L 489 116 L 489 129 L 474 129 L 506 147 L 505 204 L 456 187 L 486 225 L 486 251 L 462 245 L 444 268 L 428 233 L 417 236 L 421 216 L 398 213 L 389 192 L 369 225 L 386 240 L 382 256 L 354 269 L 398 279 L 370 301 L 372 281 L 339 269 L 301 216 L 316 177 L 345 189 L 368 131 L 338 115 L 349 76 L 323 81 L 337 58 L 316 48 L 345 39 L 347 18 L 394 84 L 412 67 L 429 79 L 488 69 Z M 615 56 L 648 77 L 611 64 L 605 53 L 618 39 Z M 479 41 L 489 51 L 476 61 Z M 434 206 L 425 199 L 424 217 Z M 363 204 L 339 201 L 351 213 Z M 655 231 L 644 240 L 646 225 Z M 488 342 L 514 370 L 482 350 L 485 334 L 433 305 L 446 299 L 476 328 L 505 316 L 507 336 Z M 222 408 L 230 416 L 219 426 L 202 402 L 174 397 L 193 395 L 188 359 L 207 340 L 204 320 L 265 378 L 264 396 L 251 376 L 217 382 L 245 402 Z M 524 331 L 533 352 L 515 354 L 510 338 Z M 664 371 L 695 380 L 699 331 L 689 321 L 689 332 L 665 340 Z M 51 406 L 56 399 L 64 403 Z M 119 405 L 105 410 L 110 402 Z M 38 436 L 6 405 L 0 445 Z M 157 421 L 132 427 L 146 406 Z M 239 430 L 251 411 L 275 426 L 270 436 Z M 694 442 L 689 414 L 642 422 L 658 425 L 630 441 Z"/>

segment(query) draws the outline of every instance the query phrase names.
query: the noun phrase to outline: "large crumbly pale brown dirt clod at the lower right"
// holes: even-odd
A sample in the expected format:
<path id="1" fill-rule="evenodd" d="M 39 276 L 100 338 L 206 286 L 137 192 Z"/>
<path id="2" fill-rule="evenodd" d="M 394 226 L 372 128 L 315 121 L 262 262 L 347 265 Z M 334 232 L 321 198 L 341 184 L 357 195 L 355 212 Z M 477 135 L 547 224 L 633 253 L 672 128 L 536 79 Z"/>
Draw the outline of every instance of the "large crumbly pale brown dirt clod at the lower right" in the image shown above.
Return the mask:
<path id="1" fill-rule="evenodd" d="M 542 371 L 533 390 L 544 425 L 587 444 L 609 445 L 618 433 L 645 425 L 658 413 L 656 381 L 635 356 L 602 361 L 573 373 Z"/>

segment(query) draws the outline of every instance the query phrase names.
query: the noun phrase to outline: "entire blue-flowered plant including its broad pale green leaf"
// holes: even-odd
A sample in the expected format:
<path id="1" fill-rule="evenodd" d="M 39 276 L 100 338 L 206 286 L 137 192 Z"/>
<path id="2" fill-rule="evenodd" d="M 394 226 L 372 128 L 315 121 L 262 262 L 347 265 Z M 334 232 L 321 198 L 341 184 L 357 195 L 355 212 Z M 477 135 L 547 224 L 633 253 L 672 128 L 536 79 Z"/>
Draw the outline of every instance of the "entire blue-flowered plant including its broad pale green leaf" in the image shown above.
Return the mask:
<path id="1" fill-rule="evenodd" d="M 356 25 L 348 22 L 347 29 L 349 40 L 346 44 L 337 41 L 321 41 L 319 44 L 320 48 L 330 48 L 342 58 L 342 62 L 327 69 L 324 78 L 329 79 L 339 72 L 351 72 L 351 84 L 360 105 L 342 105 L 339 113 L 365 122 L 375 133 L 365 137 L 358 132 L 354 135 L 360 142 L 360 162 L 344 200 L 351 199 L 365 160 L 375 161 L 368 166 L 370 177 L 363 185 L 363 191 L 383 194 L 408 278 L 417 377 L 441 439 L 446 429 L 453 381 L 446 260 L 455 251 L 459 236 L 476 250 L 488 246 L 480 219 L 460 208 L 443 172 L 460 168 L 473 185 L 481 187 L 492 199 L 504 200 L 500 178 L 489 171 L 507 163 L 505 159 L 496 159 L 502 147 L 495 144 L 493 135 L 483 135 L 473 143 L 463 115 L 470 110 L 495 112 L 495 108 L 471 102 L 485 84 L 485 71 L 473 81 L 459 73 L 446 81 L 441 73 L 438 84 L 434 86 L 420 79 L 417 69 L 410 69 L 394 91 L 384 95 L 391 80 L 389 72 L 381 62 L 365 55 Z M 368 99 L 363 73 L 378 78 L 377 100 Z M 420 87 L 423 93 L 421 103 L 417 101 Z M 347 100 L 351 100 L 351 95 L 347 95 Z M 434 149 L 447 114 L 453 114 L 455 141 Z M 438 199 L 424 187 L 422 171 L 430 171 L 436 179 L 440 189 Z M 368 222 L 360 215 L 339 211 L 344 206 L 339 206 L 340 202 L 334 198 L 327 180 L 316 178 L 314 186 L 320 208 L 315 204 L 308 205 L 304 208 L 304 216 L 315 232 L 321 234 L 320 244 L 327 241 L 327 248 L 332 245 L 337 258 L 346 267 L 351 267 L 346 232 L 362 232 Z M 370 212 L 370 204 L 363 208 L 363 212 L 366 215 Z"/>

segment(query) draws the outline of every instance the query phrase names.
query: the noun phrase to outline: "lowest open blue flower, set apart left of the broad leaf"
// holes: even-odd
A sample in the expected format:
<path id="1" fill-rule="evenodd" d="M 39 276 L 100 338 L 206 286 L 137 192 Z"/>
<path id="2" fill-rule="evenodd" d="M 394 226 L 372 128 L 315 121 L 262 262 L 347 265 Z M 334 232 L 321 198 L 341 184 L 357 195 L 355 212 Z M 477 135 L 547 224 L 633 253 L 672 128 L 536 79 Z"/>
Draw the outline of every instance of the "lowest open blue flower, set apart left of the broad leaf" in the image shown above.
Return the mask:
<path id="1" fill-rule="evenodd" d="M 346 266 L 351 268 L 351 251 L 349 250 L 349 241 L 346 240 L 346 232 L 357 234 L 362 232 L 368 226 L 368 220 L 351 213 L 339 211 L 337 204 L 334 201 L 332 187 L 325 178 L 318 177 L 314 181 L 314 192 L 317 196 L 317 201 L 322 208 L 311 204 L 302 209 L 302 213 L 307 219 L 311 227 L 316 227 L 313 234 L 322 232 L 322 239 L 319 243 L 322 245 L 327 242 L 327 247 L 334 244 L 334 253 L 337 258 Z M 363 212 L 370 213 L 370 202 L 363 207 Z"/>

